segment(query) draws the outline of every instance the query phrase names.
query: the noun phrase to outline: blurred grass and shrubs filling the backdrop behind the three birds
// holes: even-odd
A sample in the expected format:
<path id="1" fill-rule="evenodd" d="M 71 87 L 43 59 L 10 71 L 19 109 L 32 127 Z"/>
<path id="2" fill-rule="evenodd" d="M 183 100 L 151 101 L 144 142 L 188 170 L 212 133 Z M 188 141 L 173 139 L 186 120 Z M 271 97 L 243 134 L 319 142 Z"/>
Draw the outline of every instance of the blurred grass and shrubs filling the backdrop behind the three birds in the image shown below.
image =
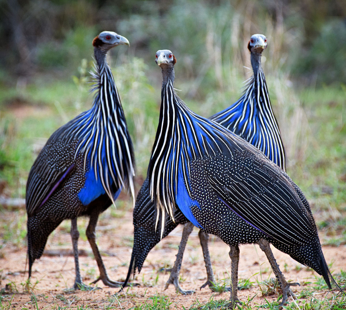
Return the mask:
<path id="1" fill-rule="evenodd" d="M 112 49 L 109 64 L 135 145 L 137 188 L 159 114 L 156 50 L 173 51 L 179 95 L 210 116 L 239 98 L 252 74 L 248 40 L 262 33 L 288 173 L 323 215 L 323 227 L 344 218 L 345 1 L 0 0 L 0 16 L 1 195 L 25 197 L 46 139 L 91 106 L 91 42 L 100 31 L 131 44 Z"/>

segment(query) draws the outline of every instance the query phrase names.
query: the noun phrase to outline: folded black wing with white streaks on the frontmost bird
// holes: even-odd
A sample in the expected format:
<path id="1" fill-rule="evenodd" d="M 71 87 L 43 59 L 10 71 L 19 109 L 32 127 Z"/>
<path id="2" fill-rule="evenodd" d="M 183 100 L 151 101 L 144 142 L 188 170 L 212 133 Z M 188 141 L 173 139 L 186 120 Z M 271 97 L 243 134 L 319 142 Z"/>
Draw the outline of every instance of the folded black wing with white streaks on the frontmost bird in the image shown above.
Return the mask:
<path id="1" fill-rule="evenodd" d="M 248 224 L 286 245 L 311 239 L 316 225 L 307 201 L 274 163 L 244 154 L 210 160 L 207 169 L 218 198 Z"/>

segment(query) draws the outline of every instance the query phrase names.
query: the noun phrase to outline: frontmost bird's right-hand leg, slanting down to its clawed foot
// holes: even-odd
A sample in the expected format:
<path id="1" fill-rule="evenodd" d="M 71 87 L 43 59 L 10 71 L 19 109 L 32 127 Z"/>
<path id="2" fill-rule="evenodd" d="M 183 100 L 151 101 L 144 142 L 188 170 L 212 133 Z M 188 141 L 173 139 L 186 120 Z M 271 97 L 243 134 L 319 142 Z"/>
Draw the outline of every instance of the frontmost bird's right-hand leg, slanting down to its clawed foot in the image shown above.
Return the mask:
<path id="1" fill-rule="evenodd" d="M 275 257 L 273 255 L 271 248 L 270 248 L 270 244 L 267 240 L 260 239 L 260 241 L 258 241 L 257 243 L 260 246 L 261 250 L 267 256 L 267 259 L 268 259 L 270 265 L 272 266 L 272 269 L 273 269 L 273 272 L 276 276 L 276 279 L 279 282 L 280 287 L 282 289 L 282 301 L 280 303 L 280 307 L 284 306 L 284 304 L 286 303 L 289 296 L 292 296 L 292 298 L 294 300 L 297 300 L 297 297 L 295 297 L 294 293 L 290 289 L 290 286 L 297 286 L 297 285 L 300 286 L 300 284 L 295 283 L 295 282 L 294 283 L 288 283 L 286 281 L 284 275 L 282 274 L 282 272 L 279 269 L 279 265 L 276 263 Z"/>

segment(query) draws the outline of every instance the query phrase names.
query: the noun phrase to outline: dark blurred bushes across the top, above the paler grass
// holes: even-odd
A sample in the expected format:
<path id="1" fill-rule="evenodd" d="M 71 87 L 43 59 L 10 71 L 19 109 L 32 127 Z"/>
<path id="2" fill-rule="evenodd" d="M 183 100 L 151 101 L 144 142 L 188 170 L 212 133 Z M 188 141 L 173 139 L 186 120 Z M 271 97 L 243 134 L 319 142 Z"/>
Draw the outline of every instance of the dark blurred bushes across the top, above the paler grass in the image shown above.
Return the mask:
<path id="1" fill-rule="evenodd" d="M 95 34 L 113 29 L 129 37 L 130 55 L 146 61 L 151 60 L 153 50 L 162 46 L 174 49 L 183 56 L 180 68 L 185 77 L 191 77 L 196 67 L 201 66 L 201 60 L 205 63 L 209 59 L 208 46 L 220 49 L 218 60 L 233 54 L 231 60 L 239 58 L 245 63 L 245 42 L 249 35 L 259 31 L 271 35 L 272 47 L 289 55 L 284 66 L 299 83 L 303 79 L 304 84 L 321 86 L 346 81 L 345 1 L 1 0 L 0 3 L 3 78 L 7 76 L 4 72 L 14 80 L 52 70 L 71 72 L 80 59 L 90 58 L 90 41 Z M 240 48 L 240 55 L 232 53 L 234 48 Z"/>

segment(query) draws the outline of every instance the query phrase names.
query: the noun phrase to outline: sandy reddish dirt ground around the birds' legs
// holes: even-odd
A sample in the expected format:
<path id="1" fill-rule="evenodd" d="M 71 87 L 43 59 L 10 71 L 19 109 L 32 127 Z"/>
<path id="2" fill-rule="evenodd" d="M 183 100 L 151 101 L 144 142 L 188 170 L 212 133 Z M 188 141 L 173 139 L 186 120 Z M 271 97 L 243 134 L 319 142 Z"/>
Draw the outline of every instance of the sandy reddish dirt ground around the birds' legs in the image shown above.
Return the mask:
<path id="1" fill-rule="evenodd" d="M 111 216 L 110 208 L 104 212 L 97 227 L 97 242 L 101 255 L 106 265 L 110 279 L 124 280 L 131 257 L 131 243 L 133 238 L 133 225 L 131 211 L 120 212 L 119 217 Z M 113 211 L 114 212 L 114 211 Z M 6 216 L 2 214 L 2 216 Z M 79 231 L 85 230 L 87 220 L 79 219 Z M 70 222 L 63 222 L 49 237 L 44 255 L 33 265 L 31 292 L 25 292 L 27 280 L 26 246 L 11 246 L 6 244 L 0 252 L 0 289 L 2 305 L 11 304 L 11 309 L 130 309 L 135 306 L 151 303 L 155 295 L 168 296 L 171 302 L 170 309 L 189 309 L 192 304 L 198 306 L 213 299 L 228 299 L 229 293 L 213 293 L 208 287 L 199 289 L 206 281 L 206 270 L 202 250 L 199 245 L 198 229 L 195 228 L 190 235 L 186 246 L 182 269 L 181 287 L 185 290 L 192 289 L 192 295 L 181 295 L 175 292 L 170 285 L 164 290 L 169 273 L 160 272 L 165 266 L 172 266 L 177 253 L 183 226 L 179 225 L 169 236 L 164 238 L 149 253 L 140 274 L 135 277 L 135 282 L 140 286 L 128 288 L 125 293 L 114 295 L 117 288 L 104 286 L 98 282 L 98 290 L 94 291 L 68 291 L 74 283 L 74 258 L 72 255 L 71 237 L 69 234 Z M 321 236 L 323 238 L 323 236 Z M 98 267 L 91 254 L 91 248 L 86 238 L 79 241 L 80 268 L 83 281 L 89 284 L 98 276 Z M 229 248 L 219 239 L 212 237 L 209 243 L 211 261 L 216 279 L 229 281 L 230 259 Z M 331 270 L 335 273 L 346 269 L 346 246 L 324 246 L 327 263 L 333 263 Z M 287 280 L 300 282 L 301 286 L 295 291 L 300 292 L 309 288 L 309 282 L 317 281 L 317 273 L 300 265 L 288 255 L 273 248 L 274 256 L 281 266 Z M 260 272 L 261 271 L 261 272 Z M 252 299 L 250 306 L 265 304 L 265 298 L 272 302 L 277 299 L 277 294 L 263 297 L 258 282 L 273 277 L 270 265 L 265 254 L 256 245 L 240 246 L 239 279 L 250 279 L 254 286 L 251 289 L 238 291 L 238 297 L 247 301 Z M 35 284 L 35 282 L 38 282 Z M 229 283 L 229 282 L 228 282 Z M 35 285 L 34 285 L 35 284 Z M 33 287 L 34 286 L 34 287 Z M 309 288 L 311 289 L 311 288 Z M 315 297 L 321 299 L 326 294 L 333 294 L 327 290 L 314 292 Z M 198 300 L 198 302 L 197 302 Z M 36 305 L 37 302 L 37 305 Z"/>

